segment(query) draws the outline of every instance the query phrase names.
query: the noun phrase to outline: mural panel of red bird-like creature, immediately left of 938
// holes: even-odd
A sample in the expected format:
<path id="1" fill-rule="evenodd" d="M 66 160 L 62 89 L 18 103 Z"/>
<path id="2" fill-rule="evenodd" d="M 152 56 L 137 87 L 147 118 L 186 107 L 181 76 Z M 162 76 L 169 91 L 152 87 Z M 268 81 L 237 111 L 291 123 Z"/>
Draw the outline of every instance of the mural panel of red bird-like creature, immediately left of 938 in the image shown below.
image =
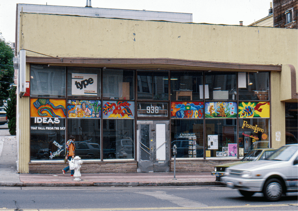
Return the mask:
<path id="1" fill-rule="evenodd" d="M 134 119 L 134 102 L 104 100 L 103 118 Z"/>

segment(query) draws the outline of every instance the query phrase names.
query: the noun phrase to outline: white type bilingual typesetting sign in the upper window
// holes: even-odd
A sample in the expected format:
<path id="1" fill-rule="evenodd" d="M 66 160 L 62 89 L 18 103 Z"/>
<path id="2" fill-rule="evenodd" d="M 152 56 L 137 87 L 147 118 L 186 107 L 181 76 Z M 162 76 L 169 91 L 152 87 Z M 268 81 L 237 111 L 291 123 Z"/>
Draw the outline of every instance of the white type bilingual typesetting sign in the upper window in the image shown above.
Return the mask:
<path id="1" fill-rule="evenodd" d="M 72 73 L 72 95 L 97 96 L 97 74 Z"/>

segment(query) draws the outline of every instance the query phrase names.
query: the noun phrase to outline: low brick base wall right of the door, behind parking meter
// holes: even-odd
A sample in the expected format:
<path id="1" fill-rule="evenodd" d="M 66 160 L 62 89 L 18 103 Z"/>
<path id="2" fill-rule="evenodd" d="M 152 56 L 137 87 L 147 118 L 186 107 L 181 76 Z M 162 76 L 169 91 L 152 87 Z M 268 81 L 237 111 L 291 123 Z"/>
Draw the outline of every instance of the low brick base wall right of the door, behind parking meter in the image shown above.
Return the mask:
<path id="1" fill-rule="evenodd" d="M 226 160 L 176 160 L 176 172 L 184 171 L 199 171 L 211 172 L 214 167 L 223 164 L 239 161 L 240 159 L 226 159 Z M 171 171 L 174 171 L 174 160 L 170 161 Z"/>

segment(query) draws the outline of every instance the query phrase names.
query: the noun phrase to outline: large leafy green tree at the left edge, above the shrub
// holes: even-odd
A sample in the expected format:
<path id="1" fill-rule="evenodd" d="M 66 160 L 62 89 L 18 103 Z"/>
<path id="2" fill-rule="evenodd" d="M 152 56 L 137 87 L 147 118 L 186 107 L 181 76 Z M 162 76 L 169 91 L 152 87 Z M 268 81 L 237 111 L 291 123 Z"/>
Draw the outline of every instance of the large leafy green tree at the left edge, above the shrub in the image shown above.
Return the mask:
<path id="1" fill-rule="evenodd" d="M 13 84 L 13 49 L 0 32 L 0 106 L 3 106 L 3 100 L 9 96 L 8 89 Z"/>

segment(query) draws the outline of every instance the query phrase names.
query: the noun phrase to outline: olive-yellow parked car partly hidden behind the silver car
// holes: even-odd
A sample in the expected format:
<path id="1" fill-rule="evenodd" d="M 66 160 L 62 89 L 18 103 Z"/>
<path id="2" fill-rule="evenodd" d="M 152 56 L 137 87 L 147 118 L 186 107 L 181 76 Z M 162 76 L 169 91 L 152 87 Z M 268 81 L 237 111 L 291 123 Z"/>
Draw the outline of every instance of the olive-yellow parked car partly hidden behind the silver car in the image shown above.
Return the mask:
<path id="1" fill-rule="evenodd" d="M 249 161 L 265 160 L 269 155 L 272 154 L 276 149 L 253 149 L 247 153 L 240 161 L 232 163 L 223 163 L 214 167 L 212 175 L 216 176 L 215 181 L 221 181 L 221 177 L 224 176 L 224 170 L 231 166 L 236 166 L 241 163 L 247 163 Z"/>

